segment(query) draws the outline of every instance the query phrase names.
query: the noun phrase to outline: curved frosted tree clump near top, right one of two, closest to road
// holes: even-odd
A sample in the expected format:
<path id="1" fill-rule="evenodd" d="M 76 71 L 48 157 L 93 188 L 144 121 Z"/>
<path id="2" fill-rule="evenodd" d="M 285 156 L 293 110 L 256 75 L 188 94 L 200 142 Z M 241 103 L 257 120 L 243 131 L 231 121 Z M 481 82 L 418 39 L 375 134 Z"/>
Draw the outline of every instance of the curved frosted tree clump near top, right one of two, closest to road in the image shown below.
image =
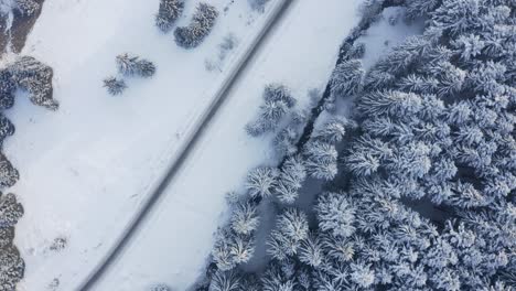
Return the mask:
<path id="1" fill-rule="evenodd" d="M 175 29 L 175 42 L 185 48 L 196 47 L 209 34 L 217 17 L 215 7 L 200 3 L 190 25 Z"/>

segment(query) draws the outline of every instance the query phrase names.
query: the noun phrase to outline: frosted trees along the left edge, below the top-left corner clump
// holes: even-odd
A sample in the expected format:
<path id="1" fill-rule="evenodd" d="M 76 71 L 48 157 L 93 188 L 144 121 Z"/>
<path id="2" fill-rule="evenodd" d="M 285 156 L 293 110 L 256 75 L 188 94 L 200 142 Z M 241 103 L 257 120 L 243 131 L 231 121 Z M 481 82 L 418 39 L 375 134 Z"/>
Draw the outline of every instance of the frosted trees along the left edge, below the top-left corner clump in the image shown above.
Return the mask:
<path id="1" fill-rule="evenodd" d="M 31 101 L 57 110 L 53 99 L 53 71 L 33 57 L 22 56 L 0 69 L 0 188 L 13 186 L 19 172 L 3 154 L 3 140 L 14 133 L 14 126 L 1 112 L 14 105 L 15 90 L 26 91 Z M 23 215 L 23 207 L 14 194 L 0 193 L 0 291 L 15 290 L 23 278 L 24 262 L 13 245 L 14 226 Z"/>

